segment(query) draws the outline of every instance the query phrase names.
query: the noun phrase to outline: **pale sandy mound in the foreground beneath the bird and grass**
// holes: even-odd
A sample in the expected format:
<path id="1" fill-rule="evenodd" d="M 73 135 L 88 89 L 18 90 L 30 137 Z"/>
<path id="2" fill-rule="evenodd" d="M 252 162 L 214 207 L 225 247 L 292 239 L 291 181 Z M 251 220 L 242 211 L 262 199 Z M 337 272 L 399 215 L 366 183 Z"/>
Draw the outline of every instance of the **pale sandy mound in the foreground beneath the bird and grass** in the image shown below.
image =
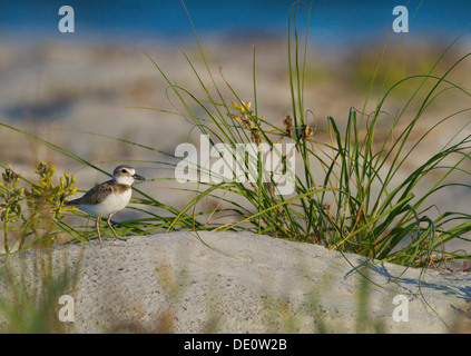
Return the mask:
<path id="1" fill-rule="evenodd" d="M 253 234 L 171 233 L 56 247 L 56 273 L 65 258 L 71 269 L 81 261 L 77 290 L 68 291 L 76 333 L 156 332 L 163 324 L 176 333 L 448 333 L 459 330 L 471 303 L 469 273 L 422 275 L 375 261 L 363 310 L 363 277 L 354 269 L 372 260 Z M 29 287 L 33 260 L 32 251 L 9 259 L 23 264 Z M 408 322 L 395 322 L 394 313 Z"/>

